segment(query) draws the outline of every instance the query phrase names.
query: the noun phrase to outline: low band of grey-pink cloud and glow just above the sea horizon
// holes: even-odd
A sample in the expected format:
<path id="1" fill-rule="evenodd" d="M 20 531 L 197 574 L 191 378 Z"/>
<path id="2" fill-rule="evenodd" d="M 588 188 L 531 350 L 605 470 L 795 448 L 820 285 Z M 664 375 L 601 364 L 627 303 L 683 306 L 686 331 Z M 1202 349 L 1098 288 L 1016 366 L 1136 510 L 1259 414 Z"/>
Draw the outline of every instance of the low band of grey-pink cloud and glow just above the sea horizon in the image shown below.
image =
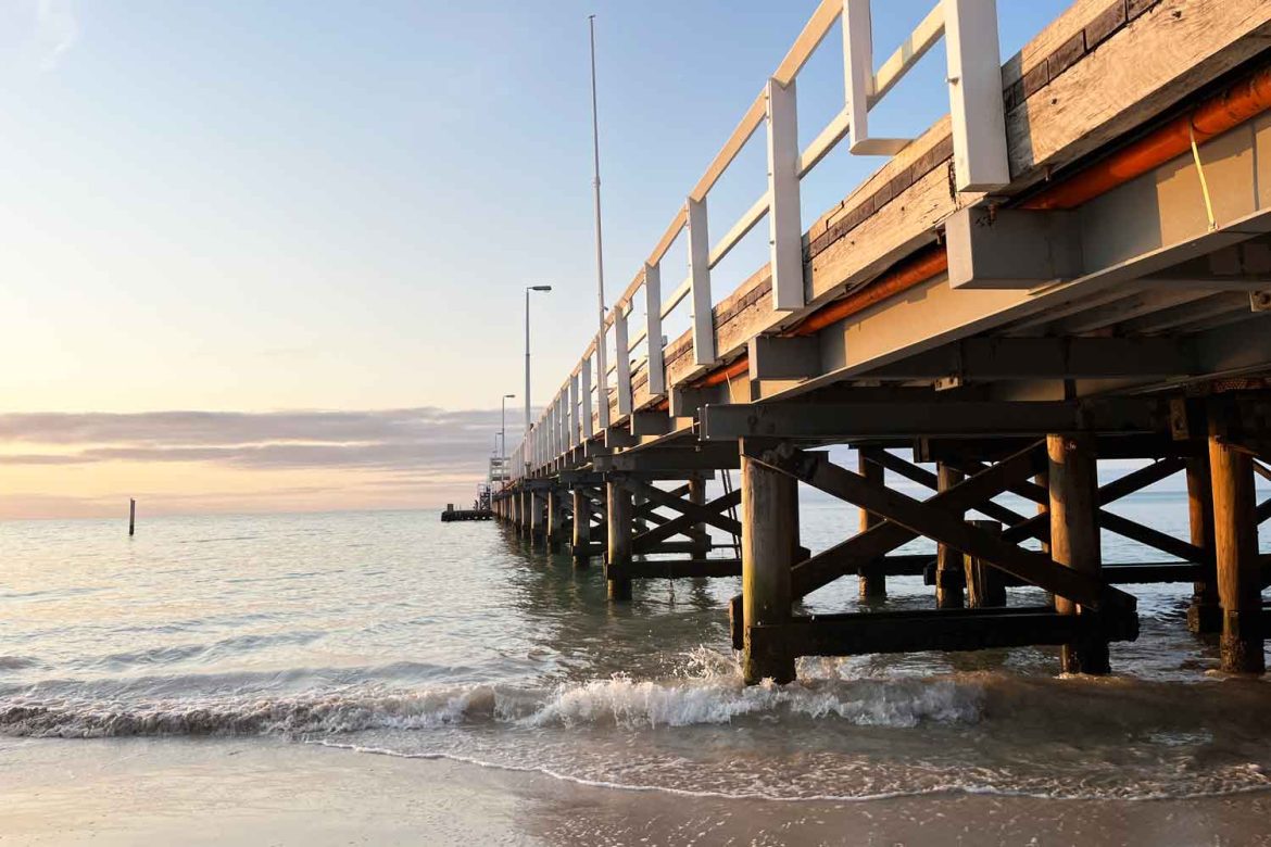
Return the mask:
<path id="1" fill-rule="evenodd" d="M 0 519 L 466 503 L 500 411 L 0 414 Z M 508 433 L 516 444 L 519 434 Z"/>

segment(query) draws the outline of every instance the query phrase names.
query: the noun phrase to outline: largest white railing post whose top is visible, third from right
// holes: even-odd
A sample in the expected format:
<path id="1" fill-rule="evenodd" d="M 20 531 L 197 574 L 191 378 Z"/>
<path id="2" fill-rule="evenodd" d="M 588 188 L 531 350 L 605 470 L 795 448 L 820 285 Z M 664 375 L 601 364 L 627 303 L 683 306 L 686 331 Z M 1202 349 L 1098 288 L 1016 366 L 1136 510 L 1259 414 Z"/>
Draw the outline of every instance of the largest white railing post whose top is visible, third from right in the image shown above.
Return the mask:
<path id="1" fill-rule="evenodd" d="M 791 311 L 803 295 L 803 223 L 798 196 L 798 98 L 794 80 L 768 80 L 768 232 L 773 309 Z"/>

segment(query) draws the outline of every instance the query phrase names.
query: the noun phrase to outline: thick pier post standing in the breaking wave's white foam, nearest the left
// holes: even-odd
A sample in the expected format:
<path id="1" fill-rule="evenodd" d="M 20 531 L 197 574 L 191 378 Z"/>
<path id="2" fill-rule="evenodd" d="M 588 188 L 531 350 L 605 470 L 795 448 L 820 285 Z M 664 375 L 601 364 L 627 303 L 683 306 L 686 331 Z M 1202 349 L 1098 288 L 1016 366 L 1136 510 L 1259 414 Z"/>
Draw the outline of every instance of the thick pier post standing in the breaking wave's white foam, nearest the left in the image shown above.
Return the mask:
<path id="1" fill-rule="evenodd" d="M 794 658 L 780 645 L 751 643 L 750 627 L 791 618 L 791 568 L 798 547 L 798 483 L 769 470 L 741 446 L 741 610 L 746 684 L 794 679 Z"/>

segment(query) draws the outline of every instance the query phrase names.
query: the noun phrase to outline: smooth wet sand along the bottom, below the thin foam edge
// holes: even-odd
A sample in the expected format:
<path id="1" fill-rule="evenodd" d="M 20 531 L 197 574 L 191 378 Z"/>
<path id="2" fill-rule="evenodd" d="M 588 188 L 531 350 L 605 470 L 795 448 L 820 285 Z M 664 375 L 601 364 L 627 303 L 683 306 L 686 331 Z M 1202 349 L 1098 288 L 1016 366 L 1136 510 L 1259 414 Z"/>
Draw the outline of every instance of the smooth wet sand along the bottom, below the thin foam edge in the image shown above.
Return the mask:
<path id="1" fill-rule="evenodd" d="M 3 844 L 1271 844 L 1271 792 L 691 797 L 272 739 L 0 740 Z"/>

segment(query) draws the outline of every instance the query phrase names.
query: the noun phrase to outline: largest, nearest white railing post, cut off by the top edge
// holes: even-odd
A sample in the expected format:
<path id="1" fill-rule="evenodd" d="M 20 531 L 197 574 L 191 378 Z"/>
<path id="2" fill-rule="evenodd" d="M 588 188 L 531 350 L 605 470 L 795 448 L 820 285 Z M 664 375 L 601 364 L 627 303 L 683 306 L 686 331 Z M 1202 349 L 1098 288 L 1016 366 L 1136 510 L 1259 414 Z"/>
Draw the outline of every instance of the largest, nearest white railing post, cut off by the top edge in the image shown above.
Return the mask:
<path id="1" fill-rule="evenodd" d="M 995 190 L 1010 183 L 998 4 L 996 0 L 942 3 L 955 183 L 960 192 Z"/>

